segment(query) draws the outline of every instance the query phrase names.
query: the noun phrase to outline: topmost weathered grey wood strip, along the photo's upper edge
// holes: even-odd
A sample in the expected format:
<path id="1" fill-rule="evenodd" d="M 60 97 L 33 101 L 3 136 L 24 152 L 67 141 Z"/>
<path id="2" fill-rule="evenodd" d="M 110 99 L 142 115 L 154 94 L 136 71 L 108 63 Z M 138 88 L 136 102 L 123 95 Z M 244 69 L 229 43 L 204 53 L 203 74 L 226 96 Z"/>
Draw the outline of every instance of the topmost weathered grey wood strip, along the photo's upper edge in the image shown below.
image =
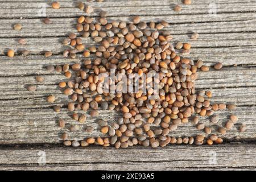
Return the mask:
<path id="1" fill-rule="evenodd" d="M 42 7 L 46 7 L 46 16 L 48 17 L 72 17 L 81 15 L 82 11 L 77 9 L 76 3 L 71 1 L 59 1 L 61 3 L 61 8 L 59 10 L 52 9 L 51 3 L 46 1 L 5 1 L 0 3 L 0 16 L 4 18 L 36 18 L 39 16 L 44 16 L 40 13 Z M 210 1 L 193 1 L 192 5 L 185 6 L 179 0 L 175 1 L 153 1 L 147 0 L 143 1 L 104 1 L 102 3 L 92 2 L 86 3 L 94 7 L 95 11 L 91 14 L 96 16 L 98 11 L 104 10 L 108 11 L 110 16 L 123 16 L 123 15 L 177 15 L 173 8 L 176 4 L 183 7 L 180 14 L 208 14 L 209 9 L 215 9 L 218 14 L 221 13 L 236 13 L 236 12 L 248 12 L 255 10 L 255 1 L 232 1 L 232 3 L 226 2 L 224 0 L 215 1 L 215 4 Z M 159 13 L 160 12 L 160 13 Z M 210 16 L 209 16 L 210 17 Z"/>

